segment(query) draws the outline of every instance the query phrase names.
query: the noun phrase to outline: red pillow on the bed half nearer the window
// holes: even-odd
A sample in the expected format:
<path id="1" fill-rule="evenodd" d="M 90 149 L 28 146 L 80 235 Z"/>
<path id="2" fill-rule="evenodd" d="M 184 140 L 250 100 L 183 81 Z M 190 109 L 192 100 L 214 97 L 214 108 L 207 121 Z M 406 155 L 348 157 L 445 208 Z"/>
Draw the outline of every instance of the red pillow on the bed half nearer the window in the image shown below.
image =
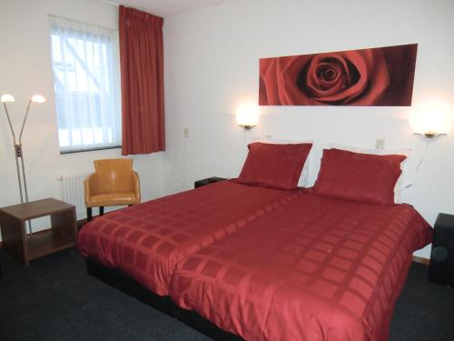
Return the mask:
<path id="1" fill-rule="evenodd" d="M 248 145 L 249 153 L 238 182 L 280 189 L 295 189 L 311 144 Z"/>

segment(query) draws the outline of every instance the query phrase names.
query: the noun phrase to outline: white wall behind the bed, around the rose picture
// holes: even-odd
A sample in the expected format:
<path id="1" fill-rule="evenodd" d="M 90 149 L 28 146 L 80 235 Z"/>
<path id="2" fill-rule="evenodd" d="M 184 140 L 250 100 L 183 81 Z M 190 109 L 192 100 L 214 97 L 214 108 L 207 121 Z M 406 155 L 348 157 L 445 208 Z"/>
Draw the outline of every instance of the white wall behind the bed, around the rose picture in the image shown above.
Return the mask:
<path id="1" fill-rule="evenodd" d="M 308 1 L 233 0 L 166 18 L 164 25 L 167 151 L 165 193 L 191 188 L 204 176 L 238 176 L 252 136 L 313 138 L 311 182 L 321 148 L 329 142 L 410 147 L 404 201 L 430 224 L 454 213 L 454 135 L 429 145 L 412 135 L 409 107 L 262 107 L 260 126 L 246 135 L 236 125 L 235 105 L 258 98 L 259 58 L 418 43 L 413 103 L 454 95 L 452 0 Z M 183 176 L 183 128 L 187 169 Z M 429 256 L 426 248 L 419 256 Z"/>

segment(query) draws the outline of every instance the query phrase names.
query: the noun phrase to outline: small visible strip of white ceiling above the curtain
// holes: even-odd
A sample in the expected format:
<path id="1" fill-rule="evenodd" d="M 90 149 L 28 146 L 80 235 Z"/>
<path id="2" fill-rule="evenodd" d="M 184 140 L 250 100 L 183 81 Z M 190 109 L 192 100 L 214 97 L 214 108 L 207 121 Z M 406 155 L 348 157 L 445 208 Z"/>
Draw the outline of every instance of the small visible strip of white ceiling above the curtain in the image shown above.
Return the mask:
<path id="1" fill-rule="evenodd" d="M 101 0 L 111 5 L 134 7 L 153 15 L 173 15 L 231 0 Z"/>

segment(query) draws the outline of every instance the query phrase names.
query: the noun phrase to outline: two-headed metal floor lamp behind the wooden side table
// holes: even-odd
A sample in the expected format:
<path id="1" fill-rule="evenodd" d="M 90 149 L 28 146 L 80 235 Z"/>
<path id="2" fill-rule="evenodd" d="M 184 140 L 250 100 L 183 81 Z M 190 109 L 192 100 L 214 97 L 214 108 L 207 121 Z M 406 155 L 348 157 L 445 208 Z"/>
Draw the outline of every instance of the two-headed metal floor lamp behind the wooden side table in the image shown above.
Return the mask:
<path id="1" fill-rule="evenodd" d="M 25 122 L 28 116 L 28 111 L 30 110 L 30 106 L 34 103 L 44 103 L 45 98 L 42 95 L 34 95 L 30 101 L 28 101 L 27 109 L 25 111 L 24 121 L 22 122 L 21 132 L 19 134 L 19 140 L 15 139 L 15 130 L 13 129 L 13 125 L 11 124 L 11 118 L 8 113 L 8 107 L 6 103 L 15 102 L 15 97 L 13 95 L 2 95 L 1 102 L 5 107 L 6 117 L 8 119 L 8 124 L 11 129 L 11 134 L 13 135 L 13 141 L 15 143 L 15 167 L 17 170 L 17 181 L 19 184 L 19 192 L 21 195 L 21 203 L 24 204 L 28 203 L 28 192 L 27 192 L 27 182 L 25 177 L 25 166 L 24 166 L 24 153 L 22 151 L 22 134 L 24 133 Z M 20 159 L 20 166 L 19 166 L 19 159 Z M 32 236 L 32 224 L 28 221 L 28 230 L 30 232 L 30 236 Z"/>

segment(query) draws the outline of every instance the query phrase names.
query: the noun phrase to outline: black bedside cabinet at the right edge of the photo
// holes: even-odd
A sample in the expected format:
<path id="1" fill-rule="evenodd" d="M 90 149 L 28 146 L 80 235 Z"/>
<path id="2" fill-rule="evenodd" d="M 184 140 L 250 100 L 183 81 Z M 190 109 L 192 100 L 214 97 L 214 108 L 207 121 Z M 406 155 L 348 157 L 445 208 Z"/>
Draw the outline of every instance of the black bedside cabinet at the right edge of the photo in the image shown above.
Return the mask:
<path id="1" fill-rule="evenodd" d="M 454 216 L 440 213 L 434 225 L 429 281 L 454 286 Z"/>

